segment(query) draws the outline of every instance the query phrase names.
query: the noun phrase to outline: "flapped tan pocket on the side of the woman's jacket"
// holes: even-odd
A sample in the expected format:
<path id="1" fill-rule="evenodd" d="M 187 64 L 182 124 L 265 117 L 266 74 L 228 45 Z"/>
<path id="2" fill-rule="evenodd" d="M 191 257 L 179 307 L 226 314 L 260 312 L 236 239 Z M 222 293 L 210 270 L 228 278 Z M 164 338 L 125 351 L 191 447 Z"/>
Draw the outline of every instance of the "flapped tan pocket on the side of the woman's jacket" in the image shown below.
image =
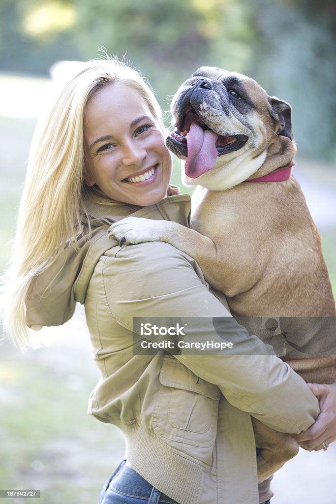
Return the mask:
<path id="1" fill-rule="evenodd" d="M 200 379 L 174 357 L 165 357 L 153 416 L 156 433 L 179 444 L 212 447 L 220 397 L 216 385 Z"/>

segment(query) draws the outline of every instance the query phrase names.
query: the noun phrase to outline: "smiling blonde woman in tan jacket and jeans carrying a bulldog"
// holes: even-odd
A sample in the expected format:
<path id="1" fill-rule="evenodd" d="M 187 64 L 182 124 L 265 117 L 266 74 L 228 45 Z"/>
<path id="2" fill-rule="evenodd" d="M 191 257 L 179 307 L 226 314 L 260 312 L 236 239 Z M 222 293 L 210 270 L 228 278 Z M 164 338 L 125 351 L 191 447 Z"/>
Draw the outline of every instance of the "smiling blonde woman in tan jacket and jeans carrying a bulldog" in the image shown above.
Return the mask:
<path id="1" fill-rule="evenodd" d="M 257 504 L 250 414 L 299 434 L 317 400 L 230 317 L 192 258 L 167 243 L 122 246 L 110 236 L 131 214 L 188 224 L 189 197 L 169 186 L 164 134 L 153 93 L 115 60 L 87 64 L 65 86 L 34 135 L 5 323 L 29 344 L 28 326 L 60 325 L 84 303 L 101 371 L 90 412 L 126 439 L 127 462 L 100 503 Z M 133 317 L 199 316 L 223 318 L 235 355 L 137 355 Z M 195 333 L 218 338 L 211 327 Z M 270 496 L 263 489 L 260 500 Z"/>

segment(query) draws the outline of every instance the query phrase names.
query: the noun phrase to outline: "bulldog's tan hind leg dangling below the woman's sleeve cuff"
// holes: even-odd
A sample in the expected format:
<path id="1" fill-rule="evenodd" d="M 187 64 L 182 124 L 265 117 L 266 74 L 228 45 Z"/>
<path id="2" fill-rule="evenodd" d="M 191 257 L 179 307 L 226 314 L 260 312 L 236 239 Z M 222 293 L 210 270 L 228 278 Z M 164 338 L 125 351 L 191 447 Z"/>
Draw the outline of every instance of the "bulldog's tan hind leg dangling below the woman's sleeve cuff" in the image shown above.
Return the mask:
<path id="1" fill-rule="evenodd" d="M 257 447 L 258 481 L 264 481 L 297 455 L 299 445 L 290 435 L 267 427 L 252 417 Z"/>

